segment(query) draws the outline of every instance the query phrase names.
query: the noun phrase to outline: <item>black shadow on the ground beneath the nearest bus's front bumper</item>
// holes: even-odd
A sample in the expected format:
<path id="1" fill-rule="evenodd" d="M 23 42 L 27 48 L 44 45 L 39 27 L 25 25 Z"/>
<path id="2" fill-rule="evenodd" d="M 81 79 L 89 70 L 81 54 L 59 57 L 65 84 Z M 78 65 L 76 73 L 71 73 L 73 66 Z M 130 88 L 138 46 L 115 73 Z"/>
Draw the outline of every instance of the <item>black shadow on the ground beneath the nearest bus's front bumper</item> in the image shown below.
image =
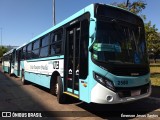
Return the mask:
<path id="1" fill-rule="evenodd" d="M 101 117 L 102 119 L 121 118 L 121 115 L 133 115 L 128 119 L 135 118 L 137 114 L 147 115 L 160 108 L 160 102 L 150 98 L 122 104 L 96 104 L 81 103 L 78 107 Z"/>

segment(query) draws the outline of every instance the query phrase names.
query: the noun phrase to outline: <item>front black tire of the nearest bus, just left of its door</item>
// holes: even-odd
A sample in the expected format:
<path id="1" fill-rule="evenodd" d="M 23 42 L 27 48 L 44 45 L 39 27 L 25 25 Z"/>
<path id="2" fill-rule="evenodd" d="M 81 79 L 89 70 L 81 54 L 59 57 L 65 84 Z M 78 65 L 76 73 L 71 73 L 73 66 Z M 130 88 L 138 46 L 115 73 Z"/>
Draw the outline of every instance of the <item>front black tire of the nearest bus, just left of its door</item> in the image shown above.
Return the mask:
<path id="1" fill-rule="evenodd" d="M 63 93 L 63 84 L 60 76 L 57 76 L 58 90 L 57 90 L 57 101 L 60 104 L 66 103 L 66 95 Z"/>

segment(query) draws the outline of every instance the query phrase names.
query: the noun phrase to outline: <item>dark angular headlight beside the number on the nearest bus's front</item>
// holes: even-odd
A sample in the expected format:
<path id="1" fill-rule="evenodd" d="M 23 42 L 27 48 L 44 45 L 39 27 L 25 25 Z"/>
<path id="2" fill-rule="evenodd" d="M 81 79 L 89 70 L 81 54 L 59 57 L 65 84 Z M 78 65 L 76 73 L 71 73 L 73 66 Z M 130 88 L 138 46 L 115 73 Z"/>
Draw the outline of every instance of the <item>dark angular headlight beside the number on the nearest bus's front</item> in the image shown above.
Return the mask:
<path id="1" fill-rule="evenodd" d="M 103 86 L 109 88 L 110 90 L 114 91 L 114 85 L 111 80 L 109 80 L 108 78 L 106 78 L 100 74 L 97 74 L 95 72 L 93 72 L 93 77 L 97 82 L 99 82 Z"/>

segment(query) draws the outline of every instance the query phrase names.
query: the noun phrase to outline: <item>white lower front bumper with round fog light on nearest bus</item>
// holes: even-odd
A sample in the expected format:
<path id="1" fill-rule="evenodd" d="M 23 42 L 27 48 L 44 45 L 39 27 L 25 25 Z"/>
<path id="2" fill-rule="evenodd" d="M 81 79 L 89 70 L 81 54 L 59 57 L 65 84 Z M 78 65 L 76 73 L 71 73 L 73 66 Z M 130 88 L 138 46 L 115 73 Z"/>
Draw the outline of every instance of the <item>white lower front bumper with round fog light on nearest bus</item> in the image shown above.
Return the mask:
<path id="1" fill-rule="evenodd" d="M 119 94 L 107 89 L 101 84 L 97 83 L 96 86 L 91 91 L 91 102 L 100 104 L 117 104 L 131 102 L 146 98 L 151 94 L 151 85 L 149 84 L 148 91 L 141 95 L 129 96 L 129 97 L 119 97 Z"/>

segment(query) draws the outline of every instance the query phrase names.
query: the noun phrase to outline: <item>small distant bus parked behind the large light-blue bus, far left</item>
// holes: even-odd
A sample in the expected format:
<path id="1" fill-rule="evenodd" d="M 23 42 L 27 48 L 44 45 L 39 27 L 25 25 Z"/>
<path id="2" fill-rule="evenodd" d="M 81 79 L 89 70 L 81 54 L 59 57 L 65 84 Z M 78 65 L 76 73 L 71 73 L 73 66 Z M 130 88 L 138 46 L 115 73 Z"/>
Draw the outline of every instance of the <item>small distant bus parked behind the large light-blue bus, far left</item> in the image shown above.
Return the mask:
<path id="1" fill-rule="evenodd" d="M 15 52 L 16 49 L 13 48 L 2 57 L 2 70 L 10 75 L 14 73 Z"/>

